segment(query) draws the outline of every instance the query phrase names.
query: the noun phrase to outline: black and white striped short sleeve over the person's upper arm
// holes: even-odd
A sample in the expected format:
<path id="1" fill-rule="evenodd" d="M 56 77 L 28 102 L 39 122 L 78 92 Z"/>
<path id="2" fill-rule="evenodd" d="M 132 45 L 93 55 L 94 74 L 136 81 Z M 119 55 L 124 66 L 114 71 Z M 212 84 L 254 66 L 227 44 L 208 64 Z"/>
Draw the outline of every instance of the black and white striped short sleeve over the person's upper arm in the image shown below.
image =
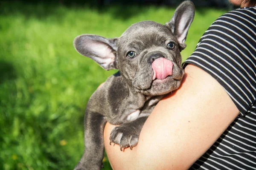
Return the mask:
<path id="1" fill-rule="evenodd" d="M 225 89 L 242 116 L 256 108 L 256 8 L 219 17 L 183 63 L 200 67 Z"/>

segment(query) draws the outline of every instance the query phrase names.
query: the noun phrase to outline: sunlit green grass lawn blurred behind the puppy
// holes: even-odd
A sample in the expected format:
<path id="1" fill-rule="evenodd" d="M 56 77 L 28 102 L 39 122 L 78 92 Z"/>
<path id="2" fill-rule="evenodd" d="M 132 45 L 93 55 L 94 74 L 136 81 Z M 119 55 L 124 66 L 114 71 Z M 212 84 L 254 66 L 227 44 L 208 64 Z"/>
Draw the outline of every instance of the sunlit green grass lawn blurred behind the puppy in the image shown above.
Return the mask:
<path id="1" fill-rule="evenodd" d="M 80 34 L 119 37 L 132 23 L 166 23 L 165 7 L 0 4 L 0 169 L 67 170 L 83 153 L 87 100 L 115 71 L 79 55 Z M 183 60 L 224 10 L 197 10 Z M 104 159 L 105 169 L 111 169 Z"/>

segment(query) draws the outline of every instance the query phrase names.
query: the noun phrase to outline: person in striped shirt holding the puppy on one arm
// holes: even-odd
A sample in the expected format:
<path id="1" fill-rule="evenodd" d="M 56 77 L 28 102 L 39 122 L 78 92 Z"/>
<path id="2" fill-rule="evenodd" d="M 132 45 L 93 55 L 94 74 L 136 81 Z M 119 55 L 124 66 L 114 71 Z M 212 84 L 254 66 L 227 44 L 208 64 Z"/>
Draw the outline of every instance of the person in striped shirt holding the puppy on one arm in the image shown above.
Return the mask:
<path id="1" fill-rule="evenodd" d="M 219 17 L 184 62 L 181 87 L 160 101 L 137 147 L 109 145 L 113 169 L 256 169 L 256 0 Z"/>

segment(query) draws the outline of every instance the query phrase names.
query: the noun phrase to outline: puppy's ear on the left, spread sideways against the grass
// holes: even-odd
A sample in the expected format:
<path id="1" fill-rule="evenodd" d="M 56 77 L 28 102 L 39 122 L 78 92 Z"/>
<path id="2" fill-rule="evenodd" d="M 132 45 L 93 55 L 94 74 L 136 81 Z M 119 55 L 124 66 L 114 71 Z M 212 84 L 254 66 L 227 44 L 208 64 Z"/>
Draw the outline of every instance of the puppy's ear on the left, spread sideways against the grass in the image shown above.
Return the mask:
<path id="1" fill-rule="evenodd" d="M 75 38 L 73 44 L 76 51 L 90 57 L 105 70 L 116 68 L 116 40 L 93 34 L 83 34 Z"/>

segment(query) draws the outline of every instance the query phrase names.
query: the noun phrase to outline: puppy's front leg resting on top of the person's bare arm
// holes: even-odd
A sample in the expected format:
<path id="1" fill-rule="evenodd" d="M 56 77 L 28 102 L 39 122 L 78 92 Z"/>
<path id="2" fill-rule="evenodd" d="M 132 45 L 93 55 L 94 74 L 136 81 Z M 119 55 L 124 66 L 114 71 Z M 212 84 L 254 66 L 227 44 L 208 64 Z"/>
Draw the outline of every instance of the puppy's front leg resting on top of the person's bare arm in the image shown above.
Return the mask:
<path id="1" fill-rule="evenodd" d="M 125 122 L 115 127 L 110 134 L 110 141 L 119 144 L 120 150 L 125 147 L 135 147 L 138 144 L 140 131 L 148 116 L 139 117 L 131 122 Z M 110 143 L 111 144 L 111 143 Z"/>

